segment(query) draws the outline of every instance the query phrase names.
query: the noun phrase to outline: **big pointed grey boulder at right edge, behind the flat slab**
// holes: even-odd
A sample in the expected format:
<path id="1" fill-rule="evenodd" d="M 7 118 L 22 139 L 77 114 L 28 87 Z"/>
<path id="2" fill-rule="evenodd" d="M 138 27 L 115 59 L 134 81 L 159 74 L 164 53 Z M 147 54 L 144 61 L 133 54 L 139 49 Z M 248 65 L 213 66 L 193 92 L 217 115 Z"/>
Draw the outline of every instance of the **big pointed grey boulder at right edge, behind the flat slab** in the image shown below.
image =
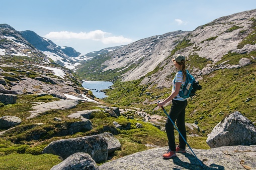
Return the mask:
<path id="1" fill-rule="evenodd" d="M 236 111 L 213 128 L 206 143 L 211 148 L 256 144 L 256 128 L 250 120 Z"/>

